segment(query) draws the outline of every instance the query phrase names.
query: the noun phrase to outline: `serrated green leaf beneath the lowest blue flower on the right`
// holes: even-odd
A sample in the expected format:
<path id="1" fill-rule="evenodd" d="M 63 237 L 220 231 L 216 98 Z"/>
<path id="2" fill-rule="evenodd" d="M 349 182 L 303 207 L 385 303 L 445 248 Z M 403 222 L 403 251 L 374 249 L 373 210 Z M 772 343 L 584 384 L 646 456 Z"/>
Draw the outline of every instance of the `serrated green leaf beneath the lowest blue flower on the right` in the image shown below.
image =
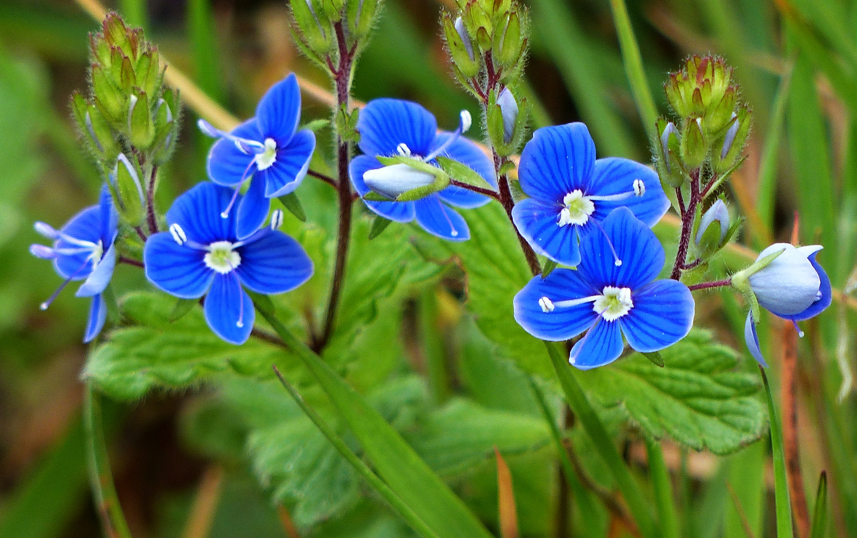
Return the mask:
<path id="1" fill-rule="evenodd" d="M 694 450 L 725 455 L 764 434 L 758 379 L 735 372 L 738 355 L 710 333 L 692 330 L 661 352 L 664 367 L 641 354 L 612 366 L 578 372 L 590 395 L 607 407 L 622 406 L 649 436 L 668 435 Z"/>

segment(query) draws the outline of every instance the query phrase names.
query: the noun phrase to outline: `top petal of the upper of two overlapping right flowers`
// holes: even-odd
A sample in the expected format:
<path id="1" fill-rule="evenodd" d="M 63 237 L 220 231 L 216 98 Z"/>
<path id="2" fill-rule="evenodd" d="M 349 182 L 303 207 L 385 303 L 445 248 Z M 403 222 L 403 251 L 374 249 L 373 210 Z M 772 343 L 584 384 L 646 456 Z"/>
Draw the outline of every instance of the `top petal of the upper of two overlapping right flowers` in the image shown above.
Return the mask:
<path id="1" fill-rule="evenodd" d="M 521 189 L 542 202 L 561 203 L 575 189 L 585 192 L 595 166 L 595 142 L 581 123 L 542 127 L 524 146 L 518 166 Z"/>

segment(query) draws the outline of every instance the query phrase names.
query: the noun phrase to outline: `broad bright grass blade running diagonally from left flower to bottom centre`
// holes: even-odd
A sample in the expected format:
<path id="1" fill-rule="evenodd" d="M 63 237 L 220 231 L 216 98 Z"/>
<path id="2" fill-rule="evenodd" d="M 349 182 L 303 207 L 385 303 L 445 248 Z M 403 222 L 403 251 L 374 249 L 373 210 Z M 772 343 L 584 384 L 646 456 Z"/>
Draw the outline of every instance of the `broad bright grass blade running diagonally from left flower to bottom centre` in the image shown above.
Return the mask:
<path id="1" fill-rule="evenodd" d="M 461 499 L 440 480 L 399 432 L 369 406 L 351 385 L 285 328 L 265 305 L 257 310 L 307 366 L 340 416 L 363 446 L 364 454 L 387 485 L 413 507 L 440 538 L 490 538 Z"/>

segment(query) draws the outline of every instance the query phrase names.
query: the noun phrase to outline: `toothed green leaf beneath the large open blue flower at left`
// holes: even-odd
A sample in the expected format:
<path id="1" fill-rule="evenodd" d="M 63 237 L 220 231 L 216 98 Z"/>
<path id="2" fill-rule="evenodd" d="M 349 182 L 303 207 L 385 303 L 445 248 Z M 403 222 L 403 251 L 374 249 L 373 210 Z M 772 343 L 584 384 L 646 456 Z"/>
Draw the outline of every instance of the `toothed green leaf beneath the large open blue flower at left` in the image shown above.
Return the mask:
<path id="1" fill-rule="evenodd" d="M 94 349 L 83 378 L 111 397 L 136 400 L 155 387 L 183 389 L 230 369 L 273 377 L 271 365 L 282 365 L 288 357 L 282 348 L 255 338 L 243 346 L 224 342 L 208 328 L 201 309 L 171 323 L 175 301 L 165 293 L 127 295 L 121 304 L 131 326 L 112 331 Z"/>

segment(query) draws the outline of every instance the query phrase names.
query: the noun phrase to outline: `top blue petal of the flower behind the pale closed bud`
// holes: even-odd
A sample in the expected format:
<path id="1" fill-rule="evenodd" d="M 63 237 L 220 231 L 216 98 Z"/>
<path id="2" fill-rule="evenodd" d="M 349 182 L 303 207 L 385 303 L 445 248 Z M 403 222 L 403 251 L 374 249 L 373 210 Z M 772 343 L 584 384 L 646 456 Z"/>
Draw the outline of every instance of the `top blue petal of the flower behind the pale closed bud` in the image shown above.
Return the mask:
<path id="1" fill-rule="evenodd" d="M 364 154 L 394 155 L 400 143 L 411 153 L 428 155 L 437 120 L 422 105 L 399 99 L 375 99 L 360 111 L 357 119 L 360 148 Z"/>

